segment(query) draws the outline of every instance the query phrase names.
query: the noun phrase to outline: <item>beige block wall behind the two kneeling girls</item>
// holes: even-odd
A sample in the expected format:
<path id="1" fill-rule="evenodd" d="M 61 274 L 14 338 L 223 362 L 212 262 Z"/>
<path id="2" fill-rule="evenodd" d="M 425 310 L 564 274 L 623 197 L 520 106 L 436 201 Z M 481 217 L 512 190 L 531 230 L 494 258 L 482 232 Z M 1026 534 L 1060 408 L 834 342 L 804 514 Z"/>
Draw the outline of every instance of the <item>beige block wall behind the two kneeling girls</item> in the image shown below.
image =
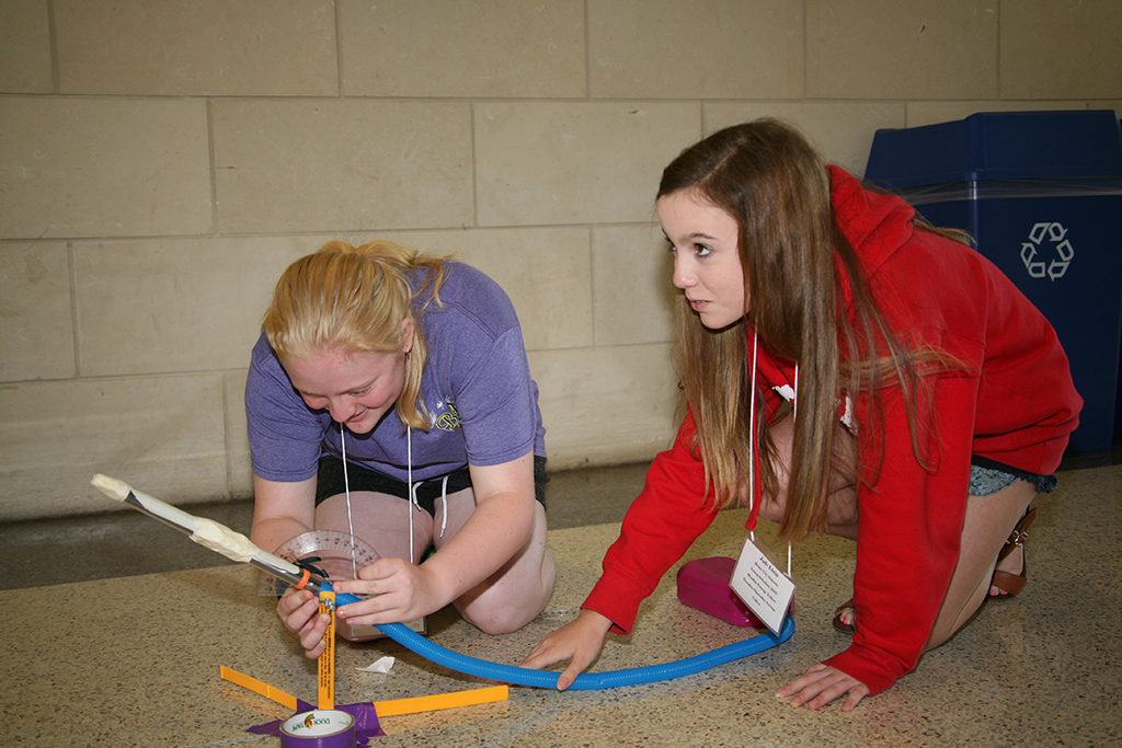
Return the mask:
<path id="1" fill-rule="evenodd" d="M 251 491 L 272 286 L 376 237 L 491 274 L 553 470 L 674 428 L 662 167 L 771 114 L 862 173 L 877 128 L 1119 109 L 1122 4 L 0 0 L 0 519 Z"/>

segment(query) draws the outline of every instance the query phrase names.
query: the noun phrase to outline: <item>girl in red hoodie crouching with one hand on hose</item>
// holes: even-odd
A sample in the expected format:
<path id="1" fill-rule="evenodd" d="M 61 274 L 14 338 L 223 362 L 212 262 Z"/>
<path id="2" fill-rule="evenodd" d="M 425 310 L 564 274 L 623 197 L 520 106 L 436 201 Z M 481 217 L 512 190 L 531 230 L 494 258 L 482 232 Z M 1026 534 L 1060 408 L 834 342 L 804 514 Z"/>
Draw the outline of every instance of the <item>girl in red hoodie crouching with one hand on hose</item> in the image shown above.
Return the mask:
<path id="1" fill-rule="evenodd" d="M 567 687 L 717 509 L 744 504 L 749 529 L 760 515 L 789 541 L 856 541 L 854 600 L 835 620 L 852 645 L 778 692 L 850 710 L 987 594 L 1020 590 L 1027 510 L 1055 488 L 1082 407 L 1067 358 L 963 237 L 773 120 L 684 150 L 656 209 L 682 292 L 687 416 L 580 616 L 524 664 L 569 662 Z"/>

